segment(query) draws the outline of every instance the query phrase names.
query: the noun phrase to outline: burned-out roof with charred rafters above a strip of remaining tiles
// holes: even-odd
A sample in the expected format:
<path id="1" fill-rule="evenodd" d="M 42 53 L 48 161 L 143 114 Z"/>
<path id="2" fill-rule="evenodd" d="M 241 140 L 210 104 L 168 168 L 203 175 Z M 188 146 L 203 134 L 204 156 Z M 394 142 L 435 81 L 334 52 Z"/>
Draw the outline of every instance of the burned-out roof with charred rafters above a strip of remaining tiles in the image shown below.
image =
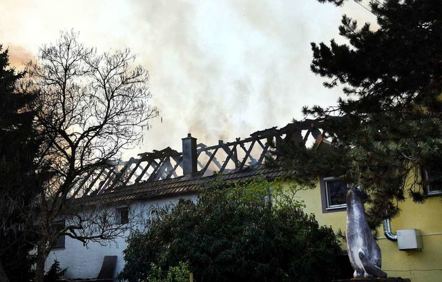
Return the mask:
<path id="1" fill-rule="evenodd" d="M 111 201 L 135 201 L 195 192 L 195 188 L 216 175 L 220 175 L 222 181 L 245 180 L 258 174 L 274 179 L 282 176 L 283 170 L 265 165 L 270 143 L 296 139 L 301 130 L 307 130 L 308 136 L 310 132 L 314 134 L 315 128 L 309 123 L 289 123 L 284 128 L 261 130 L 232 142 L 220 140 L 212 146 L 199 143 L 192 153 L 196 169 L 191 174 L 184 175 L 183 152 L 168 147 L 94 170 L 77 185 L 82 185 L 88 200 L 106 197 Z M 307 137 L 303 139 L 305 143 Z"/>

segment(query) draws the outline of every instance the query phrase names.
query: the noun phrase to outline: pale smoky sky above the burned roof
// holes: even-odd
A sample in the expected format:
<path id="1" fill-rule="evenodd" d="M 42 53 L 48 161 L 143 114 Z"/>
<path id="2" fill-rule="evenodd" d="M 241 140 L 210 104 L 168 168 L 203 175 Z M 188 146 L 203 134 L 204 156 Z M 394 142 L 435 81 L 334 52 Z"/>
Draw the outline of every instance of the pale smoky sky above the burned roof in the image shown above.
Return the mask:
<path id="1" fill-rule="evenodd" d="M 0 11 L 0 43 L 17 68 L 60 31 L 100 52 L 137 54 L 161 118 L 126 158 L 181 152 L 188 133 L 206 145 L 246 138 L 301 119 L 303 105 L 333 105 L 341 90 L 310 71 L 310 43 L 338 39 L 343 13 L 374 20 L 352 0 L 0 0 Z"/>

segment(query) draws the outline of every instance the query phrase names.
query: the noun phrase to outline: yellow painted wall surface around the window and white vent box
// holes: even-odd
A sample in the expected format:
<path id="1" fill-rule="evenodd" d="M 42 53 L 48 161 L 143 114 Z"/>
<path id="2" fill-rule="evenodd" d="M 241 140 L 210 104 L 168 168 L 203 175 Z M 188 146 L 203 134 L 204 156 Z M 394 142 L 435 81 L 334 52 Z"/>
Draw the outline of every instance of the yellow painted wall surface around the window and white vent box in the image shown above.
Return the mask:
<path id="1" fill-rule="evenodd" d="M 323 213 L 319 184 L 313 190 L 298 191 L 296 195 L 305 201 L 305 211 L 314 213 L 320 225 L 345 232 L 346 212 Z M 423 204 L 407 200 L 400 203 L 399 208 L 402 212 L 392 219 L 392 231 L 421 230 L 423 250 L 398 250 L 397 243 L 388 241 L 381 228 L 378 243 L 382 251 L 382 269 L 389 276 L 410 278 L 412 282 L 442 281 L 442 196 L 429 197 Z M 347 249 L 345 242 L 342 247 Z"/>

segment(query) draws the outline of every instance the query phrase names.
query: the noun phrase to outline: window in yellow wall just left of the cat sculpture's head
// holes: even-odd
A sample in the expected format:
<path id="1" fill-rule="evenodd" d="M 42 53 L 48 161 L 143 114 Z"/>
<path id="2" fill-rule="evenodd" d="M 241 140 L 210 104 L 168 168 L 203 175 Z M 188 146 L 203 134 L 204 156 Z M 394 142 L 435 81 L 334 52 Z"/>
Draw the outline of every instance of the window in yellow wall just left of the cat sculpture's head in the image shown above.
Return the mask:
<path id="1" fill-rule="evenodd" d="M 325 177 L 320 181 L 323 212 L 345 210 L 348 185 L 335 177 Z"/>

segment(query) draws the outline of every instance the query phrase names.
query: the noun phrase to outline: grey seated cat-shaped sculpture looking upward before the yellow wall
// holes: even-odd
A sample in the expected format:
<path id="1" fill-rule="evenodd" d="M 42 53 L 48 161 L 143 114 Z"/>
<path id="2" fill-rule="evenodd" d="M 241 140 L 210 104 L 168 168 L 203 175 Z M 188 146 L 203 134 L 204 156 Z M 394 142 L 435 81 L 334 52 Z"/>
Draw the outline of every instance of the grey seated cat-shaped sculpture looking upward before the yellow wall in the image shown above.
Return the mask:
<path id="1" fill-rule="evenodd" d="M 381 249 L 365 217 L 367 194 L 352 187 L 347 193 L 347 250 L 355 278 L 387 277 L 381 270 Z"/>

